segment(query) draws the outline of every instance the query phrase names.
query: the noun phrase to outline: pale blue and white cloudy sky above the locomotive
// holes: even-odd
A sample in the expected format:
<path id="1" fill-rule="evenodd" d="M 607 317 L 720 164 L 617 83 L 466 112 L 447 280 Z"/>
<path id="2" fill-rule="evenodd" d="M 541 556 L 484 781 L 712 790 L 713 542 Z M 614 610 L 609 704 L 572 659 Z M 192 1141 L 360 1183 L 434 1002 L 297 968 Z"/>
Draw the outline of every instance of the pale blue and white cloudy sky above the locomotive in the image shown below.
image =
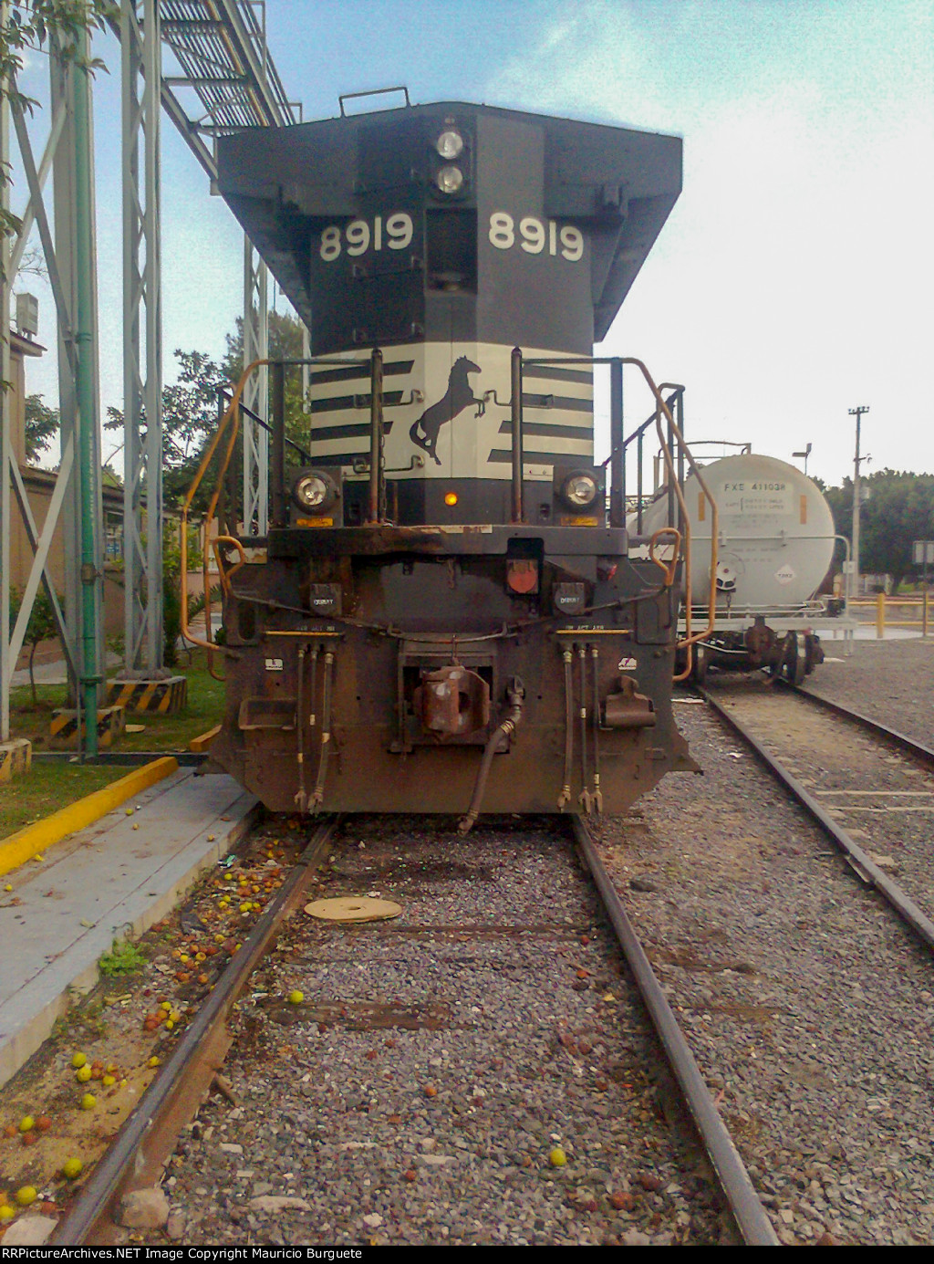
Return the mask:
<path id="1" fill-rule="evenodd" d="M 306 120 L 337 114 L 341 92 L 404 83 L 413 104 L 681 137 L 682 193 L 598 354 L 684 383 L 689 440 L 784 460 L 811 444 L 808 473 L 838 485 L 849 410 L 867 406 L 863 474 L 934 473 L 934 0 L 267 0 L 267 29 Z M 115 40 L 95 54 L 109 67 L 95 81 L 106 412 L 123 404 L 120 73 Z M 23 90 L 44 100 L 47 73 L 30 56 Z M 47 126 L 39 111 L 38 148 Z M 243 236 L 164 118 L 162 178 L 171 382 L 174 348 L 224 353 Z M 18 288 L 39 295 L 53 348 L 51 293 L 34 277 Z M 54 402 L 53 355 L 30 363 L 28 391 Z M 636 425 L 648 399 L 627 398 Z M 105 434 L 105 458 L 118 444 Z"/>

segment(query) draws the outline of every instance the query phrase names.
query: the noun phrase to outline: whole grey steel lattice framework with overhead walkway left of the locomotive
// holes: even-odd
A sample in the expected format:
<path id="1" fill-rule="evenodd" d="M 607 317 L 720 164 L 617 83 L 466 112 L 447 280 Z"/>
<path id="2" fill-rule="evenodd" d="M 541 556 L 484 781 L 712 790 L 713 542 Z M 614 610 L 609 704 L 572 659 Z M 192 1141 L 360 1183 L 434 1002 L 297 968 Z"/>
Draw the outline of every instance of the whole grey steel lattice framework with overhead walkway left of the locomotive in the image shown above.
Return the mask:
<path id="1" fill-rule="evenodd" d="M 0 20 L 8 20 L 0 0 Z M 281 126 L 301 118 L 286 97 L 265 47 L 262 0 L 123 0 L 110 25 L 123 49 L 124 142 L 124 383 L 125 383 L 125 643 L 126 670 L 162 669 L 162 382 L 159 277 L 159 109 L 167 112 L 210 179 L 216 177 L 214 138 L 241 126 Z M 162 56 L 173 61 L 162 72 Z M 102 575 L 100 417 L 97 401 L 92 135 L 87 72 L 51 57 L 52 120 L 40 162 L 21 110 L 13 109 L 29 188 L 23 230 L 13 246 L 0 241 L 0 370 L 9 379 L 9 300 L 19 259 L 38 228 L 58 315 L 62 463 L 56 493 L 39 530 L 11 449 L 9 402 L 0 392 L 0 741 L 9 737 L 10 683 L 35 593 L 42 584 L 58 622 L 77 704 L 87 712 L 87 751 L 96 753 L 97 685 L 102 679 L 99 618 Z M 81 81 L 78 83 L 78 80 Z M 76 85 L 78 91 L 76 94 Z M 77 120 L 77 126 L 76 126 Z M 0 162 L 9 155 L 9 106 L 0 106 Z M 52 172 L 54 239 L 42 201 Z M 3 196 L 6 196 L 6 188 Z M 6 204 L 4 204 L 6 205 Z M 264 267 L 246 244 L 245 325 L 255 358 L 264 348 Z M 262 392 L 263 401 L 265 392 Z M 248 401 L 249 402 L 249 401 Z M 245 445 L 253 513 L 265 513 L 262 440 Z M 78 459 L 81 458 L 81 459 Z M 10 522 L 14 497 L 34 551 L 16 624 L 10 629 Z M 147 520 L 144 521 L 144 506 Z M 47 568 L 62 522 L 66 608 L 59 608 Z"/>

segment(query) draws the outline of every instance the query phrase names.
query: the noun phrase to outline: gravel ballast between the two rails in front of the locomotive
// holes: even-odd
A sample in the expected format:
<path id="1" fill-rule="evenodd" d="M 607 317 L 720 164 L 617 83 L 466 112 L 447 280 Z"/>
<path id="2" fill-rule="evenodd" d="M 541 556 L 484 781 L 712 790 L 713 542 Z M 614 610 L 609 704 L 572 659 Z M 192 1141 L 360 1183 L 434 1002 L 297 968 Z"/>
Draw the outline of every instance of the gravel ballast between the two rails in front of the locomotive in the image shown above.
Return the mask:
<path id="1" fill-rule="evenodd" d="M 402 916 L 298 913 L 254 976 L 238 1102 L 167 1172 L 183 1240 L 731 1240 L 566 825 L 349 829 L 313 896 Z"/>

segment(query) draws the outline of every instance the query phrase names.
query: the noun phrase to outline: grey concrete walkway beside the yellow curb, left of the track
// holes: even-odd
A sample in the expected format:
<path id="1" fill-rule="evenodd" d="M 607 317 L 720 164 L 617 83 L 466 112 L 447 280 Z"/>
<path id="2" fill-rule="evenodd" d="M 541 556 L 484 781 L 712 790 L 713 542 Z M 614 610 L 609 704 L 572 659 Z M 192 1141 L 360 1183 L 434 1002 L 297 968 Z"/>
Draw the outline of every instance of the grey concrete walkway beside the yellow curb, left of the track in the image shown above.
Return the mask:
<path id="1" fill-rule="evenodd" d="M 181 769 L 130 799 L 133 815 L 119 808 L 6 875 L 0 1085 L 51 1034 L 71 990 L 97 982 L 114 939 L 134 939 L 166 916 L 250 828 L 257 803 L 233 777 Z"/>

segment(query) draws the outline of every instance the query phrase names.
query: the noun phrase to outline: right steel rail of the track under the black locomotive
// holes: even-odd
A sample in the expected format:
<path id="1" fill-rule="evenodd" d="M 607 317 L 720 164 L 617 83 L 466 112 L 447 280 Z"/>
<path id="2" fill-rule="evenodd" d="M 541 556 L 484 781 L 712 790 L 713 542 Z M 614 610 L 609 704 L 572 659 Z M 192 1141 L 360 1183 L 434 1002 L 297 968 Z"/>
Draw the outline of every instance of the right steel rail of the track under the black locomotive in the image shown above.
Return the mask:
<path id="1" fill-rule="evenodd" d="M 636 935 L 632 923 L 617 894 L 613 881 L 600 860 L 594 842 L 580 819 L 573 818 L 574 836 L 590 875 L 597 885 L 609 920 L 633 973 L 642 1000 L 655 1024 L 671 1069 L 688 1101 L 704 1149 L 713 1164 L 720 1189 L 729 1205 L 743 1241 L 748 1246 L 779 1246 L 768 1213 L 756 1193 L 733 1139 L 717 1110 L 710 1090 L 694 1059 L 677 1019 L 655 977 L 648 957 Z"/>

